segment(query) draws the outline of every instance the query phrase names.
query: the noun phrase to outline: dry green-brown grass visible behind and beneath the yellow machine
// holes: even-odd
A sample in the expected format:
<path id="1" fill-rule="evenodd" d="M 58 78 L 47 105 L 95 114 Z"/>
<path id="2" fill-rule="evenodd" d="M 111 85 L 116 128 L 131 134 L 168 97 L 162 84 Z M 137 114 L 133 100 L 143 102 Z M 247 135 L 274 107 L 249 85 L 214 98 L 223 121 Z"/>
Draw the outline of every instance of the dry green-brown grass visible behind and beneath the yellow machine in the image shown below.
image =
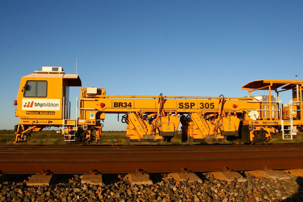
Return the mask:
<path id="1" fill-rule="evenodd" d="M 125 131 L 102 131 L 101 144 L 126 144 Z M 93 133 L 95 137 L 95 132 Z M 14 130 L 0 130 L 0 144 L 14 144 L 15 140 Z M 222 144 L 231 144 L 232 142 L 226 141 Z M 273 134 L 272 140 L 268 143 L 303 143 L 303 133 L 299 133 L 293 138 L 293 140 L 282 140 L 282 134 Z M 18 144 L 68 144 L 63 140 L 63 135 L 58 135 L 55 130 L 42 130 L 40 132 L 32 133 L 31 137 L 27 138 L 27 142 L 22 142 Z M 93 141 L 91 144 L 95 144 Z M 150 143 L 147 143 L 150 144 Z M 159 144 L 159 143 L 153 143 Z M 163 142 L 161 144 L 172 144 L 168 142 Z M 175 138 L 174 144 L 185 144 L 181 142 L 181 133 Z M 218 142 L 208 142 L 208 143 L 195 143 L 195 144 L 219 144 Z"/>

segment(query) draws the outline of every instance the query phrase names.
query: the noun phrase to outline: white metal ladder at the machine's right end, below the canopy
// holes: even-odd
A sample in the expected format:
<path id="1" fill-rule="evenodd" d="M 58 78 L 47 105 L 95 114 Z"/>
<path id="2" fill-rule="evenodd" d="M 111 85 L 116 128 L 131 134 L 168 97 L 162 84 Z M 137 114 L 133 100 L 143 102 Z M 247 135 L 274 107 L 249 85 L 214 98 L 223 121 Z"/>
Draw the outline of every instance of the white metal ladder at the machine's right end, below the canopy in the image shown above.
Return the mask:
<path id="1" fill-rule="evenodd" d="M 293 119 L 292 119 L 292 101 L 289 100 L 289 120 L 283 120 L 282 114 L 282 102 L 280 100 L 280 120 L 281 120 L 281 131 L 282 131 L 282 139 L 283 140 L 292 140 L 292 130 L 293 130 Z M 288 133 L 285 133 L 288 131 Z"/>

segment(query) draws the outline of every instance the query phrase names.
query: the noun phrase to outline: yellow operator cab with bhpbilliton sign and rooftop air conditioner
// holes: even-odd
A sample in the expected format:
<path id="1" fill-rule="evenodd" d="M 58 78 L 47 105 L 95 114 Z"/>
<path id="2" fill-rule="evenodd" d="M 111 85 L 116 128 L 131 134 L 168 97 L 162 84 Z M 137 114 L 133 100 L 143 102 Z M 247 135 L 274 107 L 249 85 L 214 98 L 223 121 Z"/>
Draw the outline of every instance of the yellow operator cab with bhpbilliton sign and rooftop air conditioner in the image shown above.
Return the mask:
<path id="1" fill-rule="evenodd" d="M 81 80 L 78 74 L 65 74 L 62 67 L 42 67 L 22 77 L 14 102 L 15 116 L 20 117 L 16 142 L 25 140 L 23 133 L 62 126 L 63 119 L 70 118 L 70 86 L 82 86 Z"/>

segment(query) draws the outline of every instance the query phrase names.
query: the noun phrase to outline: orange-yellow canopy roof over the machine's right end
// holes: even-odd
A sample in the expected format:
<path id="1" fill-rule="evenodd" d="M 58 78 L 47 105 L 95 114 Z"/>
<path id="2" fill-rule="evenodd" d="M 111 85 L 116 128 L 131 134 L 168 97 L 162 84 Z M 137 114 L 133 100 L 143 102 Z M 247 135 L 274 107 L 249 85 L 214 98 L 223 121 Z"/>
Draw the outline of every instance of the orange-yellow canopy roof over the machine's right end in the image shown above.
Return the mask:
<path id="1" fill-rule="evenodd" d="M 253 91 L 253 90 L 269 90 L 269 86 L 271 90 L 277 91 L 278 88 L 282 89 L 293 89 L 296 85 L 301 86 L 303 81 L 298 80 L 270 80 L 270 79 L 263 79 L 263 80 L 256 80 L 251 81 L 244 86 L 242 89 Z"/>

